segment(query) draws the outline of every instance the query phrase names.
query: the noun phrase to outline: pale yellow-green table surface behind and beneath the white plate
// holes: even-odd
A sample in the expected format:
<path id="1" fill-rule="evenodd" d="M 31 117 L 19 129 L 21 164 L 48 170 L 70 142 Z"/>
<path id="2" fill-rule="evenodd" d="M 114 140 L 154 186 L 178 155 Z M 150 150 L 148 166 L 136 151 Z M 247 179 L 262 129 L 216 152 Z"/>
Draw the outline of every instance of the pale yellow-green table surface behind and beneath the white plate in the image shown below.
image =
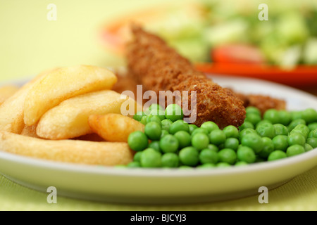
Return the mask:
<path id="1" fill-rule="evenodd" d="M 98 31 L 120 15 L 162 2 L 168 0 L 1 1 L 0 82 L 23 79 L 56 66 L 120 65 L 124 63 L 120 58 L 102 48 Z M 57 7 L 55 21 L 46 18 L 50 3 Z M 317 96 L 316 86 L 301 89 Z M 57 204 L 48 204 L 47 193 L 0 175 L 0 210 L 317 210 L 317 167 L 269 191 L 268 196 L 268 204 L 260 204 L 258 195 L 217 203 L 163 206 L 117 205 L 58 196 Z"/>

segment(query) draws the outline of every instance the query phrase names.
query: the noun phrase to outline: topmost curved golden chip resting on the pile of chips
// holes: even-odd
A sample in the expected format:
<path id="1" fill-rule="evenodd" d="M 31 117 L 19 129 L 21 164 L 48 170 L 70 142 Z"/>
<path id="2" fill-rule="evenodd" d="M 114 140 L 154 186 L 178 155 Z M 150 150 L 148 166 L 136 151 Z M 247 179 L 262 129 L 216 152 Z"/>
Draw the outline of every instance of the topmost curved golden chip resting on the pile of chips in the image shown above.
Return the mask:
<path id="1" fill-rule="evenodd" d="M 32 126 L 51 108 L 68 98 L 92 91 L 111 89 L 116 75 L 105 68 L 79 65 L 49 72 L 32 86 L 24 103 L 24 122 Z"/>

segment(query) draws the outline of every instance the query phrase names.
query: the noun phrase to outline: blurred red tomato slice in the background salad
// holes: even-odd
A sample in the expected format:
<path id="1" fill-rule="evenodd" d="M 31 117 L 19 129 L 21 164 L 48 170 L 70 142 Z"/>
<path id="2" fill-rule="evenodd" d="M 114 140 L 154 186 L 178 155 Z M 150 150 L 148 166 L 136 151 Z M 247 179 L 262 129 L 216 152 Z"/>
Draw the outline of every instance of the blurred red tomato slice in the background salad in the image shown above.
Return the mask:
<path id="1" fill-rule="evenodd" d="M 263 53 L 255 46 L 247 44 L 218 46 L 211 50 L 211 58 L 215 63 L 266 63 Z"/>

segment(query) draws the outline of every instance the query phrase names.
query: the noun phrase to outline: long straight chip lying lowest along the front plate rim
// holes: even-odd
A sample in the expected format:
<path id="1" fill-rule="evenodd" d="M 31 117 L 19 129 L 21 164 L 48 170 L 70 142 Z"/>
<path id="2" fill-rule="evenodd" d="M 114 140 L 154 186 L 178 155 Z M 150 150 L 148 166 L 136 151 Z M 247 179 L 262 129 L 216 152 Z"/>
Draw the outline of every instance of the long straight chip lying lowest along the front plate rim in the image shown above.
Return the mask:
<path id="1" fill-rule="evenodd" d="M 82 165 L 127 165 L 134 156 L 128 143 L 51 141 L 6 131 L 0 131 L 0 149 L 32 158 Z"/>

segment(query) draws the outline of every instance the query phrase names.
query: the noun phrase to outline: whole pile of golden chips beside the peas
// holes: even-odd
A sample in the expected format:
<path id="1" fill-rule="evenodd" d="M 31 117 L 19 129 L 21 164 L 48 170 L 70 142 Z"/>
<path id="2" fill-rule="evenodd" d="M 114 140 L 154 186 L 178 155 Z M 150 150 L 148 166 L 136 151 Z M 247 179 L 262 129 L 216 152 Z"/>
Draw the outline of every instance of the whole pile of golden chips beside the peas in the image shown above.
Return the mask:
<path id="1" fill-rule="evenodd" d="M 0 105 L 0 150 L 58 162 L 127 165 L 135 154 L 127 135 L 144 129 L 131 118 L 142 105 L 111 90 L 116 82 L 110 70 L 80 65 L 46 70 L 12 89 Z M 9 92 L 4 90 L 0 96 Z"/>

